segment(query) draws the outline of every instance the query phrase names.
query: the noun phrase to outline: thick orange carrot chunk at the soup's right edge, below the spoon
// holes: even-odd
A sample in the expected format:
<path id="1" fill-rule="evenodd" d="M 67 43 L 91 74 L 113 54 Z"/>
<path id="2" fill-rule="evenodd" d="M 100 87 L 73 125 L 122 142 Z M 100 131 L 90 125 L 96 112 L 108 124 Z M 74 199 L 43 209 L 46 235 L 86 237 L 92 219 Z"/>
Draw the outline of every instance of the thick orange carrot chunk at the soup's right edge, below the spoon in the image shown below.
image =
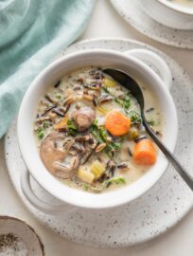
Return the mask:
<path id="1" fill-rule="evenodd" d="M 138 165 L 153 165 L 156 162 L 155 148 L 149 138 L 143 138 L 136 143 L 133 159 Z"/>

